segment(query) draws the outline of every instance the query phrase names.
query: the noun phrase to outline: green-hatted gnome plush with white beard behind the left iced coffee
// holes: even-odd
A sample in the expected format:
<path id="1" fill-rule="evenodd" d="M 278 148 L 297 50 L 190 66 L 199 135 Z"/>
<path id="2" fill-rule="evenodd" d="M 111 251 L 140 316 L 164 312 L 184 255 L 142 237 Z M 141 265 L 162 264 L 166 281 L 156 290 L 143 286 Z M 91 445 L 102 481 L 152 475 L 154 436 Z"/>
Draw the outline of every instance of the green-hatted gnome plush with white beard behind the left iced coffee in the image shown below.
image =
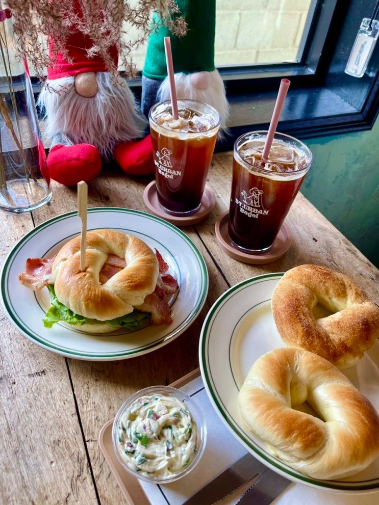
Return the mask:
<path id="1" fill-rule="evenodd" d="M 176 96 L 212 105 L 221 115 L 221 129 L 225 129 L 228 101 L 214 64 L 216 0 L 175 0 L 175 4 L 186 20 L 187 33 L 184 37 L 171 35 L 154 15 L 158 29 L 148 39 L 142 72 L 142 112 L 147 117 L 156 102 L 170 98 L 163 40 L 170 36 Z"/>

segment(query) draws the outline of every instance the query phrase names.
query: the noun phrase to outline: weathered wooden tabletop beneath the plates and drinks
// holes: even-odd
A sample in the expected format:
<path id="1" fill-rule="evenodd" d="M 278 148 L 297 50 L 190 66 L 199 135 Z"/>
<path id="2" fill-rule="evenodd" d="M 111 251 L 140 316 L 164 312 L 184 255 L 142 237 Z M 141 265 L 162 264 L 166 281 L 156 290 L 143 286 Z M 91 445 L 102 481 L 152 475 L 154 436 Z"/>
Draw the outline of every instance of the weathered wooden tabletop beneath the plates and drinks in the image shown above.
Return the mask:
<path id="1" fill-rule="evenodd" d="M 231 166 L 232 153 L 214 156 L 208 183 L 216 193 L 216 207 L 207 221 L 184 228 L 207 263 L 207 303 L 185 333 L 154 355 L 102 363 L 67 359 L 21 336 L 1 313 L 0 503 L 124 503 L 97 444 L 100 428 L 137 389 L 169 384 L 198 366 L 201 324 L 214 301 L 237 282 L 315 263 L 349 275 L 377 299 L 379 272 L 374 265 L 301 194 L 287 217 L 293 244 L 283 258 L 254 266 L 226 256 L 214 224 L 229 206 Z M 106 170 L 89 184 L 88 205 L 146 210 L 142 194 L 149 180 Z M 76 190 L 59 184 L 53 184 L 53 190 L 52 202 L 41 209 L 1 213 L 2 263 L 34 226 L 76 208 Z M 167 360 L 168 353 L 175 359 Z"/>

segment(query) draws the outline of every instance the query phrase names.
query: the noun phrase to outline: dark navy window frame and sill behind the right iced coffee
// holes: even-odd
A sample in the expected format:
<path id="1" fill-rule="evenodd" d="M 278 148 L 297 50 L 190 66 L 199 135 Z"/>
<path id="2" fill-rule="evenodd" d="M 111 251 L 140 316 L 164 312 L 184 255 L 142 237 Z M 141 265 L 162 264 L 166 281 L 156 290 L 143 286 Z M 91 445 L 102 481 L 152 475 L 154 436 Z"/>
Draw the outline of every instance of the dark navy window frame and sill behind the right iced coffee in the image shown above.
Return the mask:
<path id="1" fill-rule="evenodd" d="M 368 7 L 364 0 L 337 0 L 335 4 L 323 44 L 322 34 L 309 41 L 305 56 L 308 64 L 303 66 L 306 71 L 295 71 L 294 65 L 279 66 L 271 67 L 265 77 L 256 73 L 248 79 L 225 81 L 232 115 L 238 107 L 239 118 L 243 119 L 250 109 L 254 121 L 232 123 L 229 136 L 219 146 L 220 150 L 232 149 L 235 139 L 247 131 L 267 129 L 281 77 L 291 79 L 290 95 L 294 103 L 309 103 L 308 111 L 306 106 L 302 118 L 290 119 L 284 110 L 281 131 L 306 139 L 372 128 L 379 111 L 379 43 L 364 77 L 356 78 L 344 73 L 360 23 L 364 17 L 370 17 L 371 6 Z M 324 0 L 318 6 L 321 9 L 330 8 L 331 4 L 329 0 Z M 325 30 L 325 21 L 326 18 L 323 19 L 322 30 Z M 317 51 L 321 52 L 316 62 Z M 321 105 L 312 113 L 315 103 Z M 253 110 L 258 110 L 258 114 L 253 115 Z"/>

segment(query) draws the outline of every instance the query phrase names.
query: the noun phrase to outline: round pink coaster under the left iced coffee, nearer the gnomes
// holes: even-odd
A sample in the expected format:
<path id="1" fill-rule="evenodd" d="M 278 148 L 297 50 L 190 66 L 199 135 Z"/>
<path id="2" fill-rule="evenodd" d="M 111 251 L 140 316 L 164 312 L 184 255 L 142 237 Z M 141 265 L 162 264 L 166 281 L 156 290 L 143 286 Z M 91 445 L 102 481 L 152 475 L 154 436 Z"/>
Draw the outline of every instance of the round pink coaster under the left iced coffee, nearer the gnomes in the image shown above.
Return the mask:
<path id="1" fill-rule="evenodd" d="M 203 198 L 201 198 L 200 208 L 190 216 L 172 216 L 171 214 L 167 214 L 158 202 L 157 195 L 157 185 L 155 180 L 151 181 L 147 184 L 145 191 L 143 192 L 143 200 L 145 202 L 146 207 L 149 209 L 151 214 L 154 216 L 158 216 L 175 226 L 189 226 L 191 224 L 199 223 L 200 221 L 204 221 L 212 211 L 213 207 L 216 204 L 216 196 L 212 188 L 206 185 Z"/>

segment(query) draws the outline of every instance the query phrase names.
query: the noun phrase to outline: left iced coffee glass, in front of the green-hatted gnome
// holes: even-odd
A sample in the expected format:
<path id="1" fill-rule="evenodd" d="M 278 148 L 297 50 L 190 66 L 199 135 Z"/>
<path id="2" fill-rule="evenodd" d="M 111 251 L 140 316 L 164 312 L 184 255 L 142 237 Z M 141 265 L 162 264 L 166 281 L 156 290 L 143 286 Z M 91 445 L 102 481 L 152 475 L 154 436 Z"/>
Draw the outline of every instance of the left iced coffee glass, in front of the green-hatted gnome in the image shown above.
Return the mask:
<path id="1" fill-rule="evenodd" d="M 178 100 L 178 112 L 174 120 L 171 103 L 157 103 L 149 123 L 159 204 L 169 214 L 188 216 L 200 207 L 221 118 L 195 100 Z"/>

